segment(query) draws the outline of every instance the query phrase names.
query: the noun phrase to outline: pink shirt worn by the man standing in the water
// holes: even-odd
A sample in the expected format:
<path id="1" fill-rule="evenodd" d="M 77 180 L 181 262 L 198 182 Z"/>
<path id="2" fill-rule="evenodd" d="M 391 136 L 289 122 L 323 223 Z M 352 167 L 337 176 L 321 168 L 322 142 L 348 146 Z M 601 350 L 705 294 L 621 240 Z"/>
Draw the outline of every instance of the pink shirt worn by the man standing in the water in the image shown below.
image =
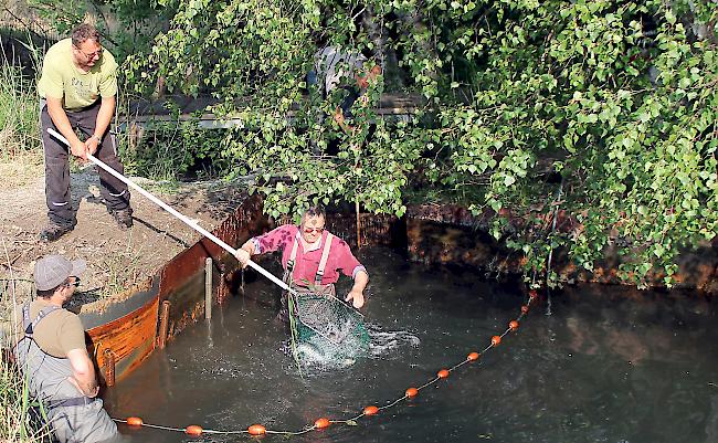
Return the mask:
<path id="1" fill-rule="evenodd" d="M 309 245 L 307 251 L 304 250 L 302 240 L 299 239 L 299 228 L 294 224 L 285 224 L 276 228 L 264 235 L 253 238 L 252 242 L 254 243 L 254 251 L 257 254 L 282 250 L 282 266 L 286 270 L 287 262 L 292 255 L 292 246 L 296 239 L 298 245 L 297 256 L 294 264 L 293 281 L 294 283 L 304 286 L 306 285 L 305 282 L 314 284 L 314 278 L 319 268 L 319 261 L 321 261 L 324 243 L 328 234 L 329 232 L 325 230 L 319 240 Z M 331 241 L 331 249 L 329 250 L 329 257 L 327 260 L 327 266 L 324 270 L 321 284 L 328 285 L 330 283 L 337 283 L 339 279 L 339 271 L 341 271 L 344 275 L 352 278 L 359 271 L 367 272 L 361 263 L 359 263 L 359 261 L 355 259 L 353 254 L 351 254 L 351 250 L 347 242 L 335 236 Z"/>

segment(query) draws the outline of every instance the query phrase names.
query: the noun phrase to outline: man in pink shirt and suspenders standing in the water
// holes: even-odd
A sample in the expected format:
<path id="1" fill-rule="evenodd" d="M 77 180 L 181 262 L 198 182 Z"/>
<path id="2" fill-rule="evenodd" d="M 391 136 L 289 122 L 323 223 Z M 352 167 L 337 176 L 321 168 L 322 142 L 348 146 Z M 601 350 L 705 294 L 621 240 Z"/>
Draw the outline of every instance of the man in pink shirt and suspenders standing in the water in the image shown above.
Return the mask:
<path id="1" fill-rule="evenodd" d="M 345 300 L 359 309 L 365 305 L 363 291 L 369 283 L 369 274 L 353 256 L 347 242 L 325 230 L 325 221 L 324 209 L 312 207 L 302 215 L 299 226 L 285 224 L 247 240 L 237 250 L 236 259 L 244 267 L 252 255 L 282 251 L 284 282 L 299 293 L 334 296 L 334 285 L 341 272 L 355 282 Z M 278 318 L 286 321 L 287 314 L 285 294 Z"/>

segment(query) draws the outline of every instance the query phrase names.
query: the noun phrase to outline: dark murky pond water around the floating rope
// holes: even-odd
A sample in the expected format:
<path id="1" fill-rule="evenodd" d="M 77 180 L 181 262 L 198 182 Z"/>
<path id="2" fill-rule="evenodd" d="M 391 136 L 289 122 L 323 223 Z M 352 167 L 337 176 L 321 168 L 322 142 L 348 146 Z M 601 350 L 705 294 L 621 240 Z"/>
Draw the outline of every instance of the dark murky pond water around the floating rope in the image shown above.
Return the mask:
<path id="1" fill-rule="evenodd" d="M 408 264 L 363 251 L 366 307 L 384 333 L 372 358 L 298 375 L 282 348 L 274 288 L 257 279 L 106 394 L 116 418 L 184 428 L 300 430 L 319 416 L 350 418 L 486 346 L 518 314 L 518 287 L 457 270 Z M 346 291 L 346 288 L 345 288 Z M 718 302 L 686 294 L 585 286 L 535 307 L 481 363 L 357 426 L 303 442 L 718 442 Z M 389 337 L 389 339 L 387 339 Z M 377 338 L 377 337 L 374 337 Z M 137 442 L 196 441 L 152 429 Z M 204 435 L 203 441 L 246 441 Z M 267 435 L 264 441 L 284 441 Z"/>

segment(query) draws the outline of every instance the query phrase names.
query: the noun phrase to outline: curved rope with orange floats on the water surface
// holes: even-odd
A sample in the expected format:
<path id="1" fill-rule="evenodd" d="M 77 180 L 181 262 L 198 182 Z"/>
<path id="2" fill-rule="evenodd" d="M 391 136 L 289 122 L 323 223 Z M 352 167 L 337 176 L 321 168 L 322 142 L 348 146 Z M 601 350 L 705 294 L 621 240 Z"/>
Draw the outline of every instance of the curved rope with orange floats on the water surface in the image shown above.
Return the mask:
<path id="1" fill-rule="evenodd" d="M 307 426 L 305 426 L 304 429 L 302 429 L 299 431 L 271 430 L 271 429 L 266 429 L 262 424 L 253 424 L 253 425 L 249 426 L 247 429 L 235 430 L 235 431 L 220 431 L 220 430 L 202 429 L 201 426 L 199 426 L 197 424 L 192 424 L 192 425 L 189 425 L 187 428 L 171 428 L 171 426 L 162 426 L 162 425 L 158 425 L 158 424 L 145 423 L 142 421 L 142 419 L 140 419 L 139 416 L 129 416 L 129 418 L 127 418 L 127 420 L 123 420 L 123 419 L 113 419 L 113 420 L 118 422 L 118 423 L 126 423 L 126 424 L 128 424 L 130 426 L 136 426 L 136 428 L 145 426 L 145 428 L 159 429 L 159 430 L 163 430 L 163 431 L 183 432 L 183 433 L 186 433 L 188 435 L 194 435 L 194 436 L 199 436 L 199 435 L 202 435 L 202 434 L 225 434 L 225 435 L 229 435 L 229 434 L 249 434 L 249 435 L 282 434 L 282 435 L 286 435 L 286 436 L 293 436 L 293 435 L 306 434 L 307 432 L 312 432 L 312 431 L 319 430 L 319 429 L 325 429 L 325 428 L 328 428 L 330 424 L 334 424 L 334 423 L 341 423 L 341 424 L 347 424 L 347 425 L 356 425 L 357 420 L 359 420 L 359 419 L 361 419 L 363 416 L 376 415 L 377 413 L 379 413 L 379 411 L 382 411 L 382 410 L 389 409 L 389 408 L 393 408 L 394 405 L 401 403 L 402 401 L 405 401 L 408 399 L 416 397 L 419 394 L 419 391 L 421 391 L 422 389 L 429 388 L 430 386 L 436 383 L 439 380 L 448 378 L 448 376 L 450 376 L 450 373 L 452 371 L 461 368 L 464 365 L 467 365 L 467 363 L 471 363 L 473 361 L 478 360 L 479 357 L 482 357 L 484 354 L 486 354 L 489 349 L 497 347 L 501 342 L 501 339 L 504 337 L 506 337 L 506 335 L 508 335 L 509 333 L 516 331 L 518 329 L 519 321 L 528 314 L 529 306 L 531 305 L 531 303 L 534 300 L 536 300 L 537 297 L 538 297 L 538 295 L 537 295 L 536 291 L 530 291 L 528 300 L 526 302 L 526 304 L 524 304 L 521 306 L 521 314 L 515 320 L 509 321 L 508 327 L 506 328 L 506 330 L 501 335 L 493 336 L 492 340 L 490 340 L 490 345 L 486 346 L 481 352 L 477 352 L 477 351 L 469 352 L 463 361 L 452 366 L 451 368 L 441 369 L 439 372 L 436 372 L 436 377 L 434 377 L 431 380 L 426 381 L 424 384 L 421 384 L 421 386 L 415 387 L 415 388 L 411 387 L 411 388 L 406 389 L 406 391 L 404 392 L 404 394 L 402 397 L 399 397 L 399 398 L 390 401 L 389 403 L 384 404 L 383 407 L 368 405 L 361 411 L 361 413 L 359 413 L 359 414 L 357 414 L 357 415 L 355 415 L 355 416 L 352 416 L 350 419 L 339 420 L 339 419 L 320 418 L 320 419 L 317 419 L 314 422 L 314 424 L 308 424 Z"/>

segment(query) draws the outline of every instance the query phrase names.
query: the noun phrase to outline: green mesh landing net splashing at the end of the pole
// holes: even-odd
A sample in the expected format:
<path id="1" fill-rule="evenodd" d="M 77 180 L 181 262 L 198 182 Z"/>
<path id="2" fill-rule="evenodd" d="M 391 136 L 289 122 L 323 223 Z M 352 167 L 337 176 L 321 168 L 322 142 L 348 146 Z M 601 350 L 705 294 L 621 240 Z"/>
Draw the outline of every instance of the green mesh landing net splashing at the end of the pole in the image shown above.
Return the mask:
<path id="1" fill-rule="evenodd" d="M 323 360 L 367 354 L 369 333 L 363 316 L 335 296 L 297 294 L 294 305 L 296 346 Z"/>

